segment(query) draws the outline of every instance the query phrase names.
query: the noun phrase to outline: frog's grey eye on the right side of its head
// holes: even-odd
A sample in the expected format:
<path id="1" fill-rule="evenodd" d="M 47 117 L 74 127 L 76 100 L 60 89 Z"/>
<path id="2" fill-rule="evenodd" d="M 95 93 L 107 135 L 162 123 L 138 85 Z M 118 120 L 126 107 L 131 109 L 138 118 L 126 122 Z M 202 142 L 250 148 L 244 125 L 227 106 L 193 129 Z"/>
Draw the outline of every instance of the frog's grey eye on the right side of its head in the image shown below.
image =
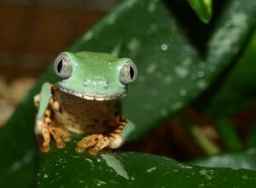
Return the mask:
<path id="1" fill-rule="evenodd" d="M 131 61 L 127 61 L 119 74 L 119 81 L 123 84 L 133 82 L 137 77 L 137 66 Z"/>

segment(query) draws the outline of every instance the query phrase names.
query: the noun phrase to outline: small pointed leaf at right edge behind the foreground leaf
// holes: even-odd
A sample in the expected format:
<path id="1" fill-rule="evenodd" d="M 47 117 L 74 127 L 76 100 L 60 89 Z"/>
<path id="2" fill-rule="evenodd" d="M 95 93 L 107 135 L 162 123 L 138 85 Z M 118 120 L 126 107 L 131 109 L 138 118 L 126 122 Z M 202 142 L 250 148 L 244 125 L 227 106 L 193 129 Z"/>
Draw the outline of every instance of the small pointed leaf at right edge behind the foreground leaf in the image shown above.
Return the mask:
<path id="1" fill-rule="evenodd" d="M 252 148 L 247 151 L 223 153 L 189 163 L 208 168 L 244 168 L 256 170 L 255 157 L 256 149 Z"/>

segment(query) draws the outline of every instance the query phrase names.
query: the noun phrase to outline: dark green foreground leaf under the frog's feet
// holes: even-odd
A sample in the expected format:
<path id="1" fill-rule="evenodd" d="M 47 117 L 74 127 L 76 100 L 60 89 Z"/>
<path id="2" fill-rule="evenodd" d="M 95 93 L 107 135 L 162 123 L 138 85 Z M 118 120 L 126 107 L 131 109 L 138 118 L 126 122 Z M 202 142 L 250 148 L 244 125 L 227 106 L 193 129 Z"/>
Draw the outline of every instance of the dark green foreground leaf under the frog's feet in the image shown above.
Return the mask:
<path id="1" fill-rule="evenodd" d="M 149 154 L 102 152 L 96 157 L 67 148 L 41 156 L 38 187 L 243 187 L 256 185 L 256 172 L 200 168 Z"/>

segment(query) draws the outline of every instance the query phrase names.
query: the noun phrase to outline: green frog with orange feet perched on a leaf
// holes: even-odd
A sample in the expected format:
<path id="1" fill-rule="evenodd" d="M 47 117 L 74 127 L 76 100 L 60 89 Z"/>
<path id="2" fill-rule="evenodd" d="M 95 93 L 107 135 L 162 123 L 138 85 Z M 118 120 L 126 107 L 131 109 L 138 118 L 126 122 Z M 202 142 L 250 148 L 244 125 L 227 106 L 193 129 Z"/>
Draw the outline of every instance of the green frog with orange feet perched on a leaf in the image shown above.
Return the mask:
<path id="1" fill-rule="evenodd" d="M 122 115 L 122 98 L 137 78 L 137 66 L 129 58 L 101 52 L 62 52 L 54 62 L 56 83 L 44 83 L 34 97 L 38 107 L 35 134 L 39 150 L 47 152 L 51 141 L 61 149 L 72 134 L 82 134 L 75 151 L 117 149 L 135 129 Z"/>

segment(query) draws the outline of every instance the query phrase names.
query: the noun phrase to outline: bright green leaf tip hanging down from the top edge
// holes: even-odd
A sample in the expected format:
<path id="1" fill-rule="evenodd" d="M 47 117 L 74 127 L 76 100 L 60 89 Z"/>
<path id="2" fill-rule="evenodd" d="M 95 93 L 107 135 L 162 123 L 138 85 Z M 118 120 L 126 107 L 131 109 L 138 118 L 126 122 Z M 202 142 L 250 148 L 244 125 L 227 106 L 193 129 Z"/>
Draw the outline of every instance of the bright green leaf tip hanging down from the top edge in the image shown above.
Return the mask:
<path id="1" fill-rule="evenodd" d="M 187 0 L 201 21 L 208 23 L 212 18 L 212 0 Z"/>

